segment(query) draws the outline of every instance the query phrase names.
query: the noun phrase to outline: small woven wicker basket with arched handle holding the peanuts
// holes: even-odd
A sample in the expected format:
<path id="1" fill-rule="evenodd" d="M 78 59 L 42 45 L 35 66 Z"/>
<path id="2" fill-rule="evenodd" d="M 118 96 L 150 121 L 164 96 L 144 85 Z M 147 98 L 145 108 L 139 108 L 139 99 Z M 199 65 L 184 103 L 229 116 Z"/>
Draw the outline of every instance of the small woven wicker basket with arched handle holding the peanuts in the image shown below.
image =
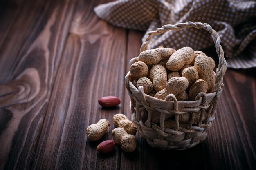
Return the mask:
<path id="1" fill-rule="evenodd" d="M 224 58 L 223 49 L 220 46 L 220 37 L 218 33 L 211 28 L 209 24 L 200 22 L 186 22 L 176 25 L 164 25 L 157 31 L 150 31 L 146 42 L 141 46 L 140 52 L 147 49 L 147 46 L 153 35 L 162 34 L 169 30 L 182 30 L 194 27 L 203 28 L 211 33 L 215 43 L 216 52 L 219 56 L 219 65 L 216 69 L 216 84 L 212 88 L 212 93 L 199 93 L 195 101 L 177 101 L 173 94 L 169 94 L 165 100 L 157 99 L 144 94 L 143 86 L 138 89 L 132 84 L 130 72 L 125 77 L 126 88 L 130 95 L 130 111 L 132 121 L 137 125 L 139 134 L 146 139 L 152 147 L 161 149 L 184 150 L 191 148 L 202 142 L 207 136 L 207 130 L 211 127 L 215 119 L 216 104 L 223 88 L 223 75 L 227 69 L 227 63 Z M 135 62 L 135 58 L 130 60 L 130 65 Z M 160 112 L 159 124 L 151 122 L 151 116 L 155 111 Z M 194 113 L 201 111 L 200 120 L 193 124 Z M 189 113 L 190 118 L 187 124 L 180 126 L 179 115 Z M 145 115 L 147 115 L 145 119 Z M 173 128 L 165 128 L 164 121 L 166 117 L 173 117 Z M 205 117 L 205 120 L 203 120 Z"/>

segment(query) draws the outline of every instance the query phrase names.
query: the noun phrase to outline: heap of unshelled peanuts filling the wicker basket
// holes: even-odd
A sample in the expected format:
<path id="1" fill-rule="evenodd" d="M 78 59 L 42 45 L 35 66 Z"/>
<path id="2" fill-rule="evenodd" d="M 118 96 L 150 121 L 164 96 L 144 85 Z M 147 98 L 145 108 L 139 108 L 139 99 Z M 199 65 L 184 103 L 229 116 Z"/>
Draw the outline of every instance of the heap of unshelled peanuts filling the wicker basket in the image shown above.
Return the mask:
<path id="1" fill-rule="evenodd" d="M 194 101 L 200 92 L 215 85 L 215 62 L 202 51 L 190 47 L 145 50 L 130 66 L 133 84 L 144 93 L 164 100 L 173 94 L 177 100 Z"/>

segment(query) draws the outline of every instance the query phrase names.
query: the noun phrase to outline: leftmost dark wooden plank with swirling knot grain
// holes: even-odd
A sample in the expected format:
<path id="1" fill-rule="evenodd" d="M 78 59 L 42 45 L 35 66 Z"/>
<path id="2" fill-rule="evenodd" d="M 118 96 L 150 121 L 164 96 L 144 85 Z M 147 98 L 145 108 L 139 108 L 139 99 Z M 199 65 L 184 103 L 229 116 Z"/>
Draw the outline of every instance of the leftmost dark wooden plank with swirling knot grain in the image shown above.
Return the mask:
<path id="1" fill-rule="evenodd" d="M 26 1 L 19 8 L 11 7 L 17 18 L 5 15 L 15 22 L 0 50 L 0 169 L 30 169 L 74 3 Z"/>

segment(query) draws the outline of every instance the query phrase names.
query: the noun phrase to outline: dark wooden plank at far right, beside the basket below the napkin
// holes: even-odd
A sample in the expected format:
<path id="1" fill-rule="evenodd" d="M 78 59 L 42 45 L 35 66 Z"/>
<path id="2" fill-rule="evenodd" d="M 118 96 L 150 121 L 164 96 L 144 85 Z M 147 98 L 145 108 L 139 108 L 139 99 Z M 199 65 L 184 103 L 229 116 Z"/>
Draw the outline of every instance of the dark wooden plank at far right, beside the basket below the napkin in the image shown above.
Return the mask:
<path id="1" fill-rule="evenodd" d="M 228 69 L 218 102 L 216 121 L 208 136 L 213 169 L 256 168 L 256 69 Z M 218 156 L 217 156 L 218 155 Z"/>

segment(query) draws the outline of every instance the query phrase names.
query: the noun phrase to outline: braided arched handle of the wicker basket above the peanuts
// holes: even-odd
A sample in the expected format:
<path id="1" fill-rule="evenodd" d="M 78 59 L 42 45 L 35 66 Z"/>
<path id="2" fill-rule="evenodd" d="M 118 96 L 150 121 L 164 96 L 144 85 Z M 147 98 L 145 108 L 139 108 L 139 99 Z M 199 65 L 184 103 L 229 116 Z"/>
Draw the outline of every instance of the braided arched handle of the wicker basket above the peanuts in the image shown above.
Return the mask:
<path id="1" fill-rule="evenodd" d="M 168 25 L 162 26 L 161 28 L 158 28 L 156 31 L 149 31 L 146 41 L 141 45 L 140 53 L 148 48 L 148 44 L 153 35 L 159 35 L 170 30 L 182 30 L 182 29 L 191 28 L 191 27 L 194 27 L 197 29 L 201 29 L 201 28 L 205 29 L 212 35 L 213 42 L 215 44 L 215 49 L 219 57 L 219 64 L 218 64 L 218 71 L 217 71 L 218 73 L 215 80 L 216 84 L 211 89 L 211 92 L 215 92 L 223 82 L 223 76 L 227 70 L 227 62 L 224 58 L 224 52 L 223 52 L 222 46 L 220 45 L 220 36 L 214 29 L 211 28 L 209 24 L 189 21 L 186 23 L 179 23 L 176 25 L 168 24 Z"/>

